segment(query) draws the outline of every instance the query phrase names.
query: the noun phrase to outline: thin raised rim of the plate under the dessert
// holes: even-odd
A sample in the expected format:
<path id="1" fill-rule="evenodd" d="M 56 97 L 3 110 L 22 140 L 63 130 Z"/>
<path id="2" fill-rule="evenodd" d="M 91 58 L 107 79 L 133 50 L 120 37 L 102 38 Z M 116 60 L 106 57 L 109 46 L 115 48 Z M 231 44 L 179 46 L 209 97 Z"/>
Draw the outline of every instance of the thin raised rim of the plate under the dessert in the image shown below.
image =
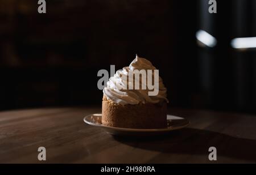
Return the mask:
<path id="1" fill-rule="evenodd" d="M 94 114 L 98 114 L 101 115 L 101 113 L 94 113 Z M 177 126 L 177 127 L 172 127 L 172 126 L 168 126 L 166 128 L 160 128 L 160 129 L 133 129 L 133 128 L 125 128 L 125 127 L 113 127 L 113 126 L 105 126 L 105 125 L 100 125 L 100 124 L 96 124 L 96 123 L 92 123 L 86 120 L 86 118 L 91 117 L 94 114 L 88 114 L 87 116 L 84 117 L 84 122 L 90 126 L 96 126 L 96 127 L 102 127 L 102 128 L 106 128 L 106 129 L 112 129 L 112 130 L 118 130 L 118 131 L 129 131 L 129 132 L 143 132 L 143 133 L 151 133 L 151 132 L 164 132 L 164 131 L 173 131 L 173 130 L 179 130 L 179 129 L 183 129 L 184 127 L 187 127 L 190 125 L 190 121 L 189 119 L 183 118 L 183 117 L 179 117 L 181 119 L 185 119 L 187 121 L 186 125 L 183 126 Z M 169 115 L 168 116 L 173 116 L 173 115 Z M 173 117 L 178 117 L 178 116 L 173 116 Z M 167 119 L 168 120 L 168 119 Z"/>

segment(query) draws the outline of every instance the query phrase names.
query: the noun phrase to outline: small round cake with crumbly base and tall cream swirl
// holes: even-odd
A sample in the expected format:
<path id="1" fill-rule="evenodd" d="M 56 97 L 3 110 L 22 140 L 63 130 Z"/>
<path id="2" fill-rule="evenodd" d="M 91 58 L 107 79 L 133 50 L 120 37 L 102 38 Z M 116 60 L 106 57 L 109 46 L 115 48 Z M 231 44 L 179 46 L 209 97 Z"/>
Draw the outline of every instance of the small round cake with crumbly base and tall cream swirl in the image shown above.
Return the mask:
<path id="1" fill-rule="evenodd" d="M 142 88 L 143 76 L 136 78 L 134 75 L 141 70 L 147 74 L 144 76 L 147 77 L 146 88 Z M 153 89 L 148 86 L 148 76 L 152 76 L 152 82 L 158 80 L 153 83 Z M 139 88 L 131 89 L 130 86 L 136 87 L 135 83 Z M 150 95 L 149 92 L 153 91 L 157 93 Z M 123 67 L 109 79 L 103 92 L 102 125 L 131 129 L 167 127 L 167 89 L 158 76 L 158 70 L 147 59 L 136 56 L 129 67 Z"/>

